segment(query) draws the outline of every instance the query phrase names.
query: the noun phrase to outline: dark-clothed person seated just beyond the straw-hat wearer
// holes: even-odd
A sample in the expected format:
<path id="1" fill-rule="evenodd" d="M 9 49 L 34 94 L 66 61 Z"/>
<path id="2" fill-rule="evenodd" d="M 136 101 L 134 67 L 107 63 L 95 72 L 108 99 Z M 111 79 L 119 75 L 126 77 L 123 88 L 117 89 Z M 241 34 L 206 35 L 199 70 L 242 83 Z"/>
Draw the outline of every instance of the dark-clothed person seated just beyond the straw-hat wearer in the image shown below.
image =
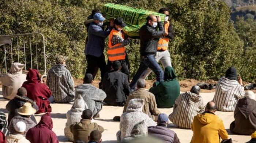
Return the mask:
<path id="1" fill-rule="evenodd" d="M 32 107 L 35 108 L 36 111 L 38 111 L 38 106 L 37 104 L 31 100 L 30 98 L 27 97 L 27 90 L 26 88 L 19 88 L 17 95 L 10 100 L 7 105 L 5 106 L 5 108 L 9 111 L 8 113 L 8 123 L 11 122 L 11 119 L 14 116 L 19 115 L 16 112 L 16 109 L 19 109 L 20 107 L 22 107 L 26 102 L 31 103 Z M 37 120 L 35 120 L 35 116 L 31 115 L 31 120 L 33 120 L 36 124 L 37 124 Z"/>

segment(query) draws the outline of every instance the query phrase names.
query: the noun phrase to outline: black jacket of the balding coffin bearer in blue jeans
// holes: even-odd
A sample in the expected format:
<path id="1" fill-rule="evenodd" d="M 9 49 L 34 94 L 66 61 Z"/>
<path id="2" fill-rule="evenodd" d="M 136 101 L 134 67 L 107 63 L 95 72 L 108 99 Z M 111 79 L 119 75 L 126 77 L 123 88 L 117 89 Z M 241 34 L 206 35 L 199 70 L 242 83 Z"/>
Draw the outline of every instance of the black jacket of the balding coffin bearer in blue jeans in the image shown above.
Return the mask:
<path id="1" fill-rule="evenodd" d="M 165 34 L 165 29 L 161 22 L 157 23 L 159 31 L 148 23 L 140 28 L 140 55 L 154 55 L 157 52 L 157 43 L 161 36 Z"/>

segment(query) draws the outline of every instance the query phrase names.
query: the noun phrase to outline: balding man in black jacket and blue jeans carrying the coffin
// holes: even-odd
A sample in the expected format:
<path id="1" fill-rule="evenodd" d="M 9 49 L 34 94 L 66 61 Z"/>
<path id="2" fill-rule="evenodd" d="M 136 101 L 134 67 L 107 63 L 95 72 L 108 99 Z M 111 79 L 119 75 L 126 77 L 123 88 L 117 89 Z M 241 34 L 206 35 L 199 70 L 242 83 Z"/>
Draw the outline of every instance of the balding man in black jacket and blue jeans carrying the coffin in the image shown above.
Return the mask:
<path id="1" fill-rule="evenodd" d="M 159 28 L 159 31 L 155 27 Z M 165 34 L 163 24 L 161 23 L 161 17 L 149 15 L 147 17 L 146 25 L 140 28 L 140 59 L 141 63 L 139 69 L 132 79 L 130 87 L 135 89 L 137 81 L 146 72 L 149 67 L 157 75 L 157 81 L 163 81 L 163 70 L 155 60 L 155 54 L 157 52 L 157 43 L 161 36 Z"/>

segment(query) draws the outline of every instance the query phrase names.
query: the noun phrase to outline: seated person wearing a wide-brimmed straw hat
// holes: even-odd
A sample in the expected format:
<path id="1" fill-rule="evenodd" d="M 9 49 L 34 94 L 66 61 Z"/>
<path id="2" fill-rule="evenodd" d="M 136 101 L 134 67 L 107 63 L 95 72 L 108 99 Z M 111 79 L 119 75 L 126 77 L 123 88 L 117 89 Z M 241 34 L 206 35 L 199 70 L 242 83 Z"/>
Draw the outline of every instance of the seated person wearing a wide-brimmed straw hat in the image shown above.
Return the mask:
<path id="1" fill-rule="evenodd" d="M 31 115 L 37 112 L 35 108 L 32 108 L 31 103 L 26 102 L 21 108 L 17 109 L 17 112 L 19 115 L 12 118 L 8 127 L 8 130 L 11 132 L 11 134 L 15 134 L 15 125 L 19 121 L 23 121 L 26 124 L 26 132 L 36 125 L 35 122 L 30 118 Z"/>

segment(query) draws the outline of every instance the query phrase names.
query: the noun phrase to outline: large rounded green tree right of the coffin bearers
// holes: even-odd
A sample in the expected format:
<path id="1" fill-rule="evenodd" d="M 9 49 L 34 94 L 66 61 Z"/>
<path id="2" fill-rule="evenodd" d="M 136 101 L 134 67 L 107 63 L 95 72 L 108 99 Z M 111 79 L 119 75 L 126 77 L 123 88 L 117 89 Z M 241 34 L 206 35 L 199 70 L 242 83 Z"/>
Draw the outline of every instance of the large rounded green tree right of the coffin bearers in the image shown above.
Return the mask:
<path id="1" fill-rule="evenodd" d="M 170 52 L 178 60 L 173 60 L 178 75 L 217 80 L 229 66 L 237 66 L 242 43 L 229 23 L 225 2 L 173 0 L 168 8 L 175 30 Z"/>

